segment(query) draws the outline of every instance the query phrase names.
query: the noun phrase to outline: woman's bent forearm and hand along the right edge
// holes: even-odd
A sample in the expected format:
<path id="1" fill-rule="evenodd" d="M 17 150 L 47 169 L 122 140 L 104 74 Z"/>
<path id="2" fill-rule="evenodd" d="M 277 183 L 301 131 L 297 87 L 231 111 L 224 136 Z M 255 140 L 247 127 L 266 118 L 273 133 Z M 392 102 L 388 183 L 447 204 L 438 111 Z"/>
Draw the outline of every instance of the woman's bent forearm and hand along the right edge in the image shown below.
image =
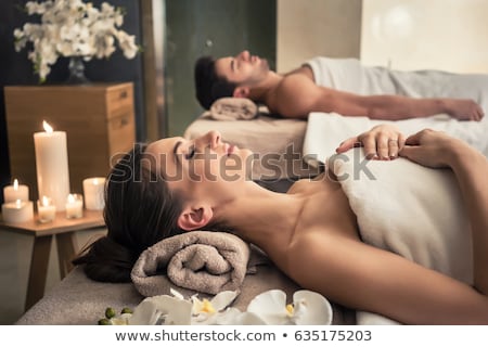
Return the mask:
<path id="1" fill-rule="evenodd" d="M 473 233 L 474 286 L 488 295 L 488 159 L 465 142 L 433 130 L 408 138 L 400 155 L 454 171 Z"/>

